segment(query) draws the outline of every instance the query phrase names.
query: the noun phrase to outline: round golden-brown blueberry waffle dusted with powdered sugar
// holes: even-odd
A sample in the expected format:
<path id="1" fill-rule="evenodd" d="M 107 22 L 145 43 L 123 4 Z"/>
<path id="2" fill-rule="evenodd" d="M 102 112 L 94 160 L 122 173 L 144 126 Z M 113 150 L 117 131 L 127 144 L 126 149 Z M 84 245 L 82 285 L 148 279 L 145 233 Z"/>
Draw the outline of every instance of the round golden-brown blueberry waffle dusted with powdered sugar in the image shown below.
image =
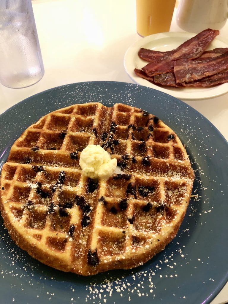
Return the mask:
<path id="1" fill-rule="evenodd" d="M 81 151 L 102 146 L 121 173 L 93 180 Z M 15 243 L 62 271 L 94 275 L 142 265 L 174 238 L 194 173 L 178 136 L 129 105 L 72 105 L 43 116 L 12 145 L 1 212 Z"/>

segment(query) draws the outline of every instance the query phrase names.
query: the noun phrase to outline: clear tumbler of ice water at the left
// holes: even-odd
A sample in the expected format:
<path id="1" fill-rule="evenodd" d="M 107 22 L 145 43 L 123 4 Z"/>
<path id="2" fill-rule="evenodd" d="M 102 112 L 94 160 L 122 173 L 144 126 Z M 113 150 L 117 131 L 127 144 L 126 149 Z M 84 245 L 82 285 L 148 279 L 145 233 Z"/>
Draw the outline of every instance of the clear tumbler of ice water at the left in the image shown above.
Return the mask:
<path id="1" fill-rule="evenodd" d="M 31 0 L 0 0 L 0 82 L 9 88 L 35 84 L 44 74 Z"/>

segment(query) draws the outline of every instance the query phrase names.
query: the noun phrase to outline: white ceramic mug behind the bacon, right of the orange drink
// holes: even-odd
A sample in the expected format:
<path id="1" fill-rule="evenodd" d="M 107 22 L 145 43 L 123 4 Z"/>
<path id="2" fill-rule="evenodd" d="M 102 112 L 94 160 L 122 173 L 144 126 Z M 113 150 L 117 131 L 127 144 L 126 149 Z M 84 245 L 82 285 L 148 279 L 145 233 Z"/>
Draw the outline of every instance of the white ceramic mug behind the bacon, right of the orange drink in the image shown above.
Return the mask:
<path id="1" fill-rule="evenodd" d="M 227 14 L 227 0 L 180 0 L 176 20 L 181 29 L 199 33 L 208 28 L 221 29 Z"/>

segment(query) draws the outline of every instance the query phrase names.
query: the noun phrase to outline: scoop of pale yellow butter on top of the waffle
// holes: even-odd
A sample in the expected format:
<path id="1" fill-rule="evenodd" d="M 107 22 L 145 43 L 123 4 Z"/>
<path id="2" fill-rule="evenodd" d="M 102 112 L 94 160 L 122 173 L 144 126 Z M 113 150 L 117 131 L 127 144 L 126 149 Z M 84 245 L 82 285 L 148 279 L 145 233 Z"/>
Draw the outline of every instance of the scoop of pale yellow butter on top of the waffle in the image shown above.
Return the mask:
<path id="1" fill-rule="evenodd" d="M 116 169 L 117 159 L 111 159 L 99 145 L 88 145 L 81 151 L 79 165 L 90 178 L 109 178 Z"/>

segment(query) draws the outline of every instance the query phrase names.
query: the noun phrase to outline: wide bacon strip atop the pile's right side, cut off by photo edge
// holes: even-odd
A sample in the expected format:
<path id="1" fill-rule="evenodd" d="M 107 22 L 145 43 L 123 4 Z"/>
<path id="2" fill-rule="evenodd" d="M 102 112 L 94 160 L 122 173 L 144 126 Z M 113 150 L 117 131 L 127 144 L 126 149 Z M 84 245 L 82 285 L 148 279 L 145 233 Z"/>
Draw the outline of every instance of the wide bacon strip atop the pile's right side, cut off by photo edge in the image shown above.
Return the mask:
<path id="1" fill-rule="evenodd" d="M 177 84 L 190 82 L 223 72 L 228 69 L 228 52 L 213 58 L 204 60 L 175 61 L 174 74 Z"/>

